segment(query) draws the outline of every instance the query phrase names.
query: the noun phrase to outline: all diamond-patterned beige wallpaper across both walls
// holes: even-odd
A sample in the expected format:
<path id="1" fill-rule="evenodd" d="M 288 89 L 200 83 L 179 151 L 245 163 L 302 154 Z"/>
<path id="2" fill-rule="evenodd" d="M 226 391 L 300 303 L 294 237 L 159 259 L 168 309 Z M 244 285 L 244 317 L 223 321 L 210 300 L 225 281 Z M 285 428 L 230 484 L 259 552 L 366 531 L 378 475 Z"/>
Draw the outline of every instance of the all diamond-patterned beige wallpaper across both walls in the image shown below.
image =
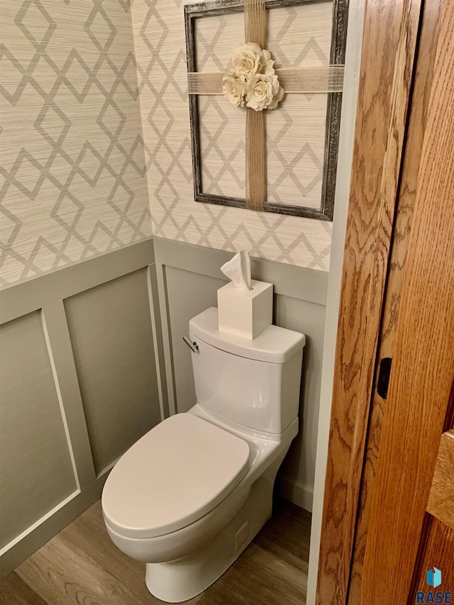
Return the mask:
<path id="1" fill-rule="evenodd" d="M 194 201 L 183 4 L 1 1 L 0 287 L 151 235 L 328 270 L 331 223 Z M 331 3 L 313 6 L 328 14 Z M 284 41 L 284 10 L 271 32 L 279 54 L 322 64 L 326 32 Z M 216 104 L 230 119 L 234 108 Z M 205 111 L 219 120 L 213 104 Z M 289 106 L 274 117 L 277 135 L 297 123 Z M 226 158 L 213 140 L 207 183 L 243 187 L 241 125 L 223 130 L 232 147 Z M 320 150 L 275 150 L 287 165 L 270 171 L 276 199 L 319 186 Z"/>

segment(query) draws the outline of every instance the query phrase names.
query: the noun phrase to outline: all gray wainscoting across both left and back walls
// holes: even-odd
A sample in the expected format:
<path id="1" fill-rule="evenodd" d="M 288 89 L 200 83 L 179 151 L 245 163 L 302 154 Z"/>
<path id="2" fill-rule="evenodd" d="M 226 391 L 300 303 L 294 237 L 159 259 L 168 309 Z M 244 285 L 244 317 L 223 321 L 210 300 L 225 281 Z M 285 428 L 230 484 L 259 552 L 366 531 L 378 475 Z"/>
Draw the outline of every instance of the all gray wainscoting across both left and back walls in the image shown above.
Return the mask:
<path id="1" fill-rule="evenodd" d="M 195 403 L 189 319 L 232 252 L 155 238 L 0 292 L 0 577 L 82 513 L 143 433 Z M 274 322 L 306 334 L 282 495 L 311 510 L 328 274 L 253 260 Z"/>

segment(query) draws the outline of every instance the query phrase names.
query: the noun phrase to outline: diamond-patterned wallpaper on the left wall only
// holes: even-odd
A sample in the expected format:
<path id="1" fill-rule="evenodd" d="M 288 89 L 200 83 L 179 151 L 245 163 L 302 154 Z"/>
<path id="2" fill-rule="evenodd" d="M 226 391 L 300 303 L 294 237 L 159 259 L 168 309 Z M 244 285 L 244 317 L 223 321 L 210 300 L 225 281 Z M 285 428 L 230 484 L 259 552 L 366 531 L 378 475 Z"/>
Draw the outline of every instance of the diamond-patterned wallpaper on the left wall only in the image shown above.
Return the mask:
<path id="1" fill-rule="evenodd" d="M 129 0 L 2 0 L 0 285 L 151 235 Z"/>

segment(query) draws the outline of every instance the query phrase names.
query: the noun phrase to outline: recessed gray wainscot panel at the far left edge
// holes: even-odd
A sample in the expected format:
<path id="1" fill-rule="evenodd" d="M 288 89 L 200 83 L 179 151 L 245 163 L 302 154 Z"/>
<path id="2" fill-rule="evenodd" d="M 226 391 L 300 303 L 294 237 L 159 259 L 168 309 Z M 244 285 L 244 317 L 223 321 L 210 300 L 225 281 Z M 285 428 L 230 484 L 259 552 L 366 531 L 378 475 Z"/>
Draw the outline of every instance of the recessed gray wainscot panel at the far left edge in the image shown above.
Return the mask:
<path id="1" fill-rule="evenodd" d="M 39 311 L 0 326 L 0 384 L 4 547 L 79 491 Z"/>

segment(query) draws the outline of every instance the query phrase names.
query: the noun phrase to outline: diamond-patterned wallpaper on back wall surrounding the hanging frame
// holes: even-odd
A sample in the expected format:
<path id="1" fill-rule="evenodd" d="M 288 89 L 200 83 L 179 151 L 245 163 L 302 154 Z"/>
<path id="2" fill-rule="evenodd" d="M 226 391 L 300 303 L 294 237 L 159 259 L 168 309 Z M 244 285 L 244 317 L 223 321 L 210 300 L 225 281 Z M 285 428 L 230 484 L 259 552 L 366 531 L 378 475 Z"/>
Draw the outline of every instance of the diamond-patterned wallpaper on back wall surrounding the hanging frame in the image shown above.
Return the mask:
<path id="1" fill-rule="evenodd" d="M 328 271 L 331 222 L 194 201 L 184 4 L 134 0 L 132 6 L 153 235 L 222 250 L 245 248 L 255 257 Z M 331 10 L 331 2 L 323 4 Z M 284 31 L 291 23 L 289 9 Z M 302 48 L 314 43 L 309 28 L 290 39 Z M 229 45 L 243 41 L 240 30 L 239 39 L 232 36 Z M 317 59 L 316 53 L 309 55 Z"/>

